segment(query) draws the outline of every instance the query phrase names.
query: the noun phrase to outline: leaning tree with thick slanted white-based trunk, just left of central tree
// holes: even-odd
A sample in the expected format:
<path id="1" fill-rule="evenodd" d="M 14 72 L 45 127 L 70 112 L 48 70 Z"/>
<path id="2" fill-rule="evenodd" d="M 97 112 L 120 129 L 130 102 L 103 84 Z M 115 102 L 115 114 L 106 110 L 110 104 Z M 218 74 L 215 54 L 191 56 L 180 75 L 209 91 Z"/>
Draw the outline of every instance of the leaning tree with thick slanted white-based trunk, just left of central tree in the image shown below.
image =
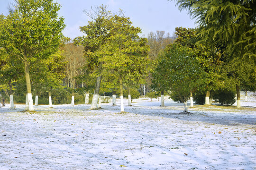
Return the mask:
<path id="1" fill-rule="evenodd" d="M 106 23 L 109 22 L 111 11 L 107 10 L 107 6 L 101 5 L 91 9 L 91 11 L 84 10 L 84 13 L 91 17 L 92 21 L 89 21 L 87 26 L 80 27 L 81 32 L 86 36 L 76 37 L 74 43 L 84 46 L 84 57 L 87 60 L 88 69 L 91 72 L 91 76 L 96 78 L 91 109 L 97 109 L 103 64 L 100 59 L 104 55 L 102 53 L 102 45 L 108 41 L 107 38 L 110 36 L 110 25 Z"/>

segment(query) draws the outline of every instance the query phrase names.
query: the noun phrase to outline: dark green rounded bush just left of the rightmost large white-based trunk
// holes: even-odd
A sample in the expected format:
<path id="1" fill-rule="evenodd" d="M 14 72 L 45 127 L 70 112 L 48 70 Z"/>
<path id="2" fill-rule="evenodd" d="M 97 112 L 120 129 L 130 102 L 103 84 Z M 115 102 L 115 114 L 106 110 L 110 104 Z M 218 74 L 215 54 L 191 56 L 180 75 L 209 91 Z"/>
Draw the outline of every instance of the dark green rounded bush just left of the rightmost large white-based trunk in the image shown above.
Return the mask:
<path id="1" fill-rule="evenodd" d="M 220 104 L 233 105 L 236 102 L 235 96 L 236 92 L 232 90 L 220 89 L 214 94 L 213 99 Z"/>

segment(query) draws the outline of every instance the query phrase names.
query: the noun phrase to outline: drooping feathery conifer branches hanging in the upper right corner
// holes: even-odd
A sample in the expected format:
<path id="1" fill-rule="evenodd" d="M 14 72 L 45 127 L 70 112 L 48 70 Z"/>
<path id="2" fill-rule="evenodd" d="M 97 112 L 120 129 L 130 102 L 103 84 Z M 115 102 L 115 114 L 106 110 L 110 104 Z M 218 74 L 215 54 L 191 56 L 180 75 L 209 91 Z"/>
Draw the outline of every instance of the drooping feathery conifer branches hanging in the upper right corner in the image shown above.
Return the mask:
<path id="1" fill-rule="evenodd" d="M 201 28 L 201 41 L 219 41 L 229 48 L 230 58 L 256 62 L 255 0 L 174 0 L 187 9 Z"/>

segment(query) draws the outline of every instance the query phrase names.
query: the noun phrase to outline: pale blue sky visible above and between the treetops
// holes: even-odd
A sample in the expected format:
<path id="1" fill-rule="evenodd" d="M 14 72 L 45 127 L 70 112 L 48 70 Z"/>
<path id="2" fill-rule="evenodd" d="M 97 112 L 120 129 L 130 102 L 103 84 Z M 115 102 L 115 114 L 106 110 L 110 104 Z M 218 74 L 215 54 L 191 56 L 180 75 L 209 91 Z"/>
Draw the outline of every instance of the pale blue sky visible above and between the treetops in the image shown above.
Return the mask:
<path id="1" fill-rule="evenodd" d="M 8 14 L 8 4 L 13 0 L 0 0 L 0 13 Z M 118 12 L 121 8 L 126 17 L 130 17 L 134 26 L 142 29 L 142 34 L 147 37 L 149 32 L 156 30 L 169 32 L 171 35 L 175 27 L 196 27 L 187 11 L 180 12 L 174 2 L 167 0 L 57 0 L 62 8 L 59 16 L 65 18 L 66 28 L 64 36 L 75 38 L 81 36 L 79 26 L 87 25 L 91 20 L 82 11 L 91 7 L 108 5 L 109 10 Z"/>

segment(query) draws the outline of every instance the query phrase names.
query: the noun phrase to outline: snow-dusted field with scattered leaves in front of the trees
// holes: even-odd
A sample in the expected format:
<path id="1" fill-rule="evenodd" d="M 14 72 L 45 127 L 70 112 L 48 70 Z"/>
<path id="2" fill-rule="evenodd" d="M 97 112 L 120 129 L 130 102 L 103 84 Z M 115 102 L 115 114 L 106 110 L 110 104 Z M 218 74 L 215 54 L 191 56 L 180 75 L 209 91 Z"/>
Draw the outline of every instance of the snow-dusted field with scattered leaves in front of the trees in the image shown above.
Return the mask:
<path id="1" fill-rule="evenodd" d="M 256 170 L 256 99 L 242 108 L 165 100 L 0 108 L 0 170 Z M 189 104 L 189 103 L 188 103 Z"/>

